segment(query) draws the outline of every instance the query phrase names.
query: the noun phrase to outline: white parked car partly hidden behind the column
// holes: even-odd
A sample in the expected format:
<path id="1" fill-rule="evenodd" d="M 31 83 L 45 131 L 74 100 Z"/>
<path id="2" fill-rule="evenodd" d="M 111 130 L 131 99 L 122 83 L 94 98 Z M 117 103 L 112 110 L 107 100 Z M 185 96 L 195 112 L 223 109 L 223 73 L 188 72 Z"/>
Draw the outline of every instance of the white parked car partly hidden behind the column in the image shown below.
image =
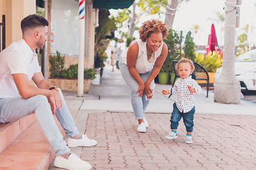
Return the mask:
<path id="1" fill-rule="evenodd" d="M 234 66 L 241 89 L 256 90 L 256 49 L 239 55 Z M 222 67 L 217 69 L 215 79 L 220 76 L 221 69 Z"/>

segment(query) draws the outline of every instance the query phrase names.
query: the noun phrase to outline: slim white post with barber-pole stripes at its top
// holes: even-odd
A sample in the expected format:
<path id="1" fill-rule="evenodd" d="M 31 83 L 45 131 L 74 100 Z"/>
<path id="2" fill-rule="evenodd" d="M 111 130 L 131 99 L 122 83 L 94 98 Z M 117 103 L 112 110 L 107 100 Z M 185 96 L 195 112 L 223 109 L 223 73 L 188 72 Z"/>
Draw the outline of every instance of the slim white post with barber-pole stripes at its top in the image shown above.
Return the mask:
<path id="1" fill-rule="evenodd" d="M 77 96 L 84 94 L 84 13 L 85 2 L 79 0 L 79 46 L 78 46 L 78 75 L 77 75 Z"/>

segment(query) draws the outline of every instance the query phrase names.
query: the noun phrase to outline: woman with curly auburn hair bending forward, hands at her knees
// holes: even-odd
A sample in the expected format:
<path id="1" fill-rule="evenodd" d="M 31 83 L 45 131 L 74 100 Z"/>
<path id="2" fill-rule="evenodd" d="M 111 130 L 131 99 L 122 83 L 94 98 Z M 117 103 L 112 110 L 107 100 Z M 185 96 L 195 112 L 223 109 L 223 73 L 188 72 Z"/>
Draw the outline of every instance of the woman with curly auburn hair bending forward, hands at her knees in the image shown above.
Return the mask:
<path id="1" fill-rule="evenodd" d="M 167 55 L 163 42 L 168 30 L 159 20 L 148 20 L 139 29 L 140 39 L 132 41 L 120 60 L 122 76 L 131 91 L 131 104 L 138 120 L 138 132 L 147 132 L 144 111 L 153 97 L 156 78 Z"/>

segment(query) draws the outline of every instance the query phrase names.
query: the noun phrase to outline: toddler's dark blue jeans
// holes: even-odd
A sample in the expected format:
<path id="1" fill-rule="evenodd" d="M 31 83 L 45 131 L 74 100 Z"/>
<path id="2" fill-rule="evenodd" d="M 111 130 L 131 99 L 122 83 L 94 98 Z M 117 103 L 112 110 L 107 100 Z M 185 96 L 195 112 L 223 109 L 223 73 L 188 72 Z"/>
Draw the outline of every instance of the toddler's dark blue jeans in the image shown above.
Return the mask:
<path id="1" fill-rule="evenodd" d="M 177 129 L 180 119 L 183 118 L 184 125 L 186 126 L 187 132 L 193 132 L 194 127 L 194 114 L 195 114 L 195 106 L 188 113 L 180 112 L 176 106 L 176 103 L 173 103 L 173 111 L 171 117 L 171 129 Z"/>

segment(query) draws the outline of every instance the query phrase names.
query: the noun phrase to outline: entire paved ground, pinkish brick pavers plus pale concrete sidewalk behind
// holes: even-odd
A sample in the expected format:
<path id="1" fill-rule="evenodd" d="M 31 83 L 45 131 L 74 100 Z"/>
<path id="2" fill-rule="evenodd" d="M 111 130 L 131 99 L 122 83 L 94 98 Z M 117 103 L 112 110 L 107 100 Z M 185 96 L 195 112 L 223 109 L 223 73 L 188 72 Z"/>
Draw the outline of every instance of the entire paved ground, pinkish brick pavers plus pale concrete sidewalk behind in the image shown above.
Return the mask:
<path id="1" fill-rule="evenodd" d="M 186 144 L 182 121 L 177 139 L 164 138 L 170 132 L 173 101 L 161 95 L 170 86 L 157 85 L 145 113 L 150 127 L 138 133 L 129 90 L 120 71 L 110 70 L 104 69 L 100 85 L 92 85 L 84 97 L 65 92 L 79 131 L 86 129 L 98 141 L 94 147 L 72 148 L 93 169 L 256 169 L 254 105 L 214 103 L 214 94 L 206 98 L 203 90 L 196 97 L 194 143 Z"/>

